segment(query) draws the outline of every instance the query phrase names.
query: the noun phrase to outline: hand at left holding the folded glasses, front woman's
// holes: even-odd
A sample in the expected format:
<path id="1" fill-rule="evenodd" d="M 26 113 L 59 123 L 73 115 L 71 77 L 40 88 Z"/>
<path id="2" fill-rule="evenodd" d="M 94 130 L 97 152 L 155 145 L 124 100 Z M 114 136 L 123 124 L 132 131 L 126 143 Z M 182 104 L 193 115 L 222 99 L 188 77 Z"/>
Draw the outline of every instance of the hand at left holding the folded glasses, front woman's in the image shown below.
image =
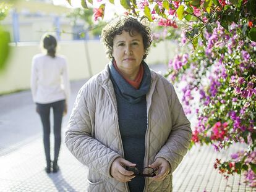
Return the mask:
<path id="1" fill-rule="evenodd" d="M 135 167 L 136 164 L 123 159 L 122 157 L 117 157 L 110 168 L 110 174 L 119 182 L 130 182 L 134 178 L 134 172 L 126 170 L 124 167 Z"/>

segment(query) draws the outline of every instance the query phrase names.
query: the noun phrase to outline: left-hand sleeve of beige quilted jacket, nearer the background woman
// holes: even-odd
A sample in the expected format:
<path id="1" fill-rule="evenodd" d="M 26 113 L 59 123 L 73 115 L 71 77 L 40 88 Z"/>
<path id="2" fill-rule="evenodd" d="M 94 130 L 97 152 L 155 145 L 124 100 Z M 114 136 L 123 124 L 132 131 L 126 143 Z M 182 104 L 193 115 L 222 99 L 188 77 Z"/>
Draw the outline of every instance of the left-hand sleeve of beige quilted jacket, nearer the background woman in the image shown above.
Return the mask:
<path id="1" fill-rule="evenodd" d="M 87 82 L 79 91 L 70 115 L 65 143 L 82 164 L 111 177 L 111 164 L 120 155 L 93 138 L 96 88 L 89 84 Z"/>

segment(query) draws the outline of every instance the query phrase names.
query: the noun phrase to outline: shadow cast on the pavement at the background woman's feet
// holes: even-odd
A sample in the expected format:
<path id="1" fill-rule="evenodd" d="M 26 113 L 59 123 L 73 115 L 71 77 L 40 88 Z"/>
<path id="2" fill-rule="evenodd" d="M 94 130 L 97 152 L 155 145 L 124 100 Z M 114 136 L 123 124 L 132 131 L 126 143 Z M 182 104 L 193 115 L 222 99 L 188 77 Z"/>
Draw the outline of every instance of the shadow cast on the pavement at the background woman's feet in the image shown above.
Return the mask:
<path id="1" fill-rule="evenodd" d="M 59 170 L 58 173 L 50 173 L 48 174 L 48 177 L 51 178 L 53 181 L 54 185 L 56 186 L 56 189 L 59 192 L 62 191 L 69 191 L 69 192 L 75 192 L 76 190 L 72 188 L 71 185 L 69 185 L 68 182 L 63 178 L 61 170 Z"/>

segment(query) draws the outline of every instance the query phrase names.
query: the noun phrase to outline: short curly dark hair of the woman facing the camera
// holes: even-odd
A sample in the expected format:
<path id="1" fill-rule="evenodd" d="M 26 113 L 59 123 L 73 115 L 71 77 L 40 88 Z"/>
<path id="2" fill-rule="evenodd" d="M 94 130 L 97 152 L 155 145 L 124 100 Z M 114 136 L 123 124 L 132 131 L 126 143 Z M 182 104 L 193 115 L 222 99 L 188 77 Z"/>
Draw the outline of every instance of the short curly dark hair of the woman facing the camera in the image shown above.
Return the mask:
<path id="1" fill-rule="evenodd" d="M 129 32 L 134 36 L 134 31 L 140 33 L 143 39 L 145 54 L 143 59 L 148 55 L 148 49 L 151 44 L 151 30 L 143 25 L 137 19 L 130 16 L 121 16 L 106 25 L 101 32 L 101 41 L 106 47 L 106 54 L 110 60 L 113 59 L 113 40 L 116 35 L 121 35 L 122 31 Z"/>

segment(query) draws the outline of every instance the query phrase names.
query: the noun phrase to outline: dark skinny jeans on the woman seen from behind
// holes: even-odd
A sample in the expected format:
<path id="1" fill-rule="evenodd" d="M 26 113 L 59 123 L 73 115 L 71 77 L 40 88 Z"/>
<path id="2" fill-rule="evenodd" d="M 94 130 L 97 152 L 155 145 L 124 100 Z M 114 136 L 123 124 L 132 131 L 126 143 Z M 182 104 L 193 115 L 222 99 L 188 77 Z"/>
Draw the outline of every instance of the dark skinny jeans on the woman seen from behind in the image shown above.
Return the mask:
<path id="1" fill-rule="evenodd" d="M 50 109 L 53 107 L 53 119 L 54 119 L 54 162 L 57 163 L 59 157 L 59 149 L 61 148 L 61 122 L 64 112 L 65 100 L 51 102 L 48 104 L 36 103 L 37 111 L 40 115 L 41 122 L 43 124 L 43 144 L 45 146 L 46 163 L 50 165 Z"/>

